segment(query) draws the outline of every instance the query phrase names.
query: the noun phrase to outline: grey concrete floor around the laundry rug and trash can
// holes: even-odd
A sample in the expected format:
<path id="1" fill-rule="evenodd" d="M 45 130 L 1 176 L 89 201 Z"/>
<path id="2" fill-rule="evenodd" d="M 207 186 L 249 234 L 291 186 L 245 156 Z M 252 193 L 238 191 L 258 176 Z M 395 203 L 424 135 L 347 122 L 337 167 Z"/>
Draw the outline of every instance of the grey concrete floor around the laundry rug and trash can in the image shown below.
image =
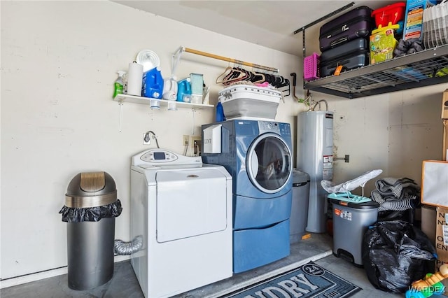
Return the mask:
<path id="1" fill-rule="evenodd" d="M 311 234 L 306 240 L 293 243 L 291 254 L 282 260 L 267 264 L 263 267 L 252 269 L 240 274 L 235 274 L 218 283 L 206 285 L 202 288 L 176 295 L 176 298 L 213 298 L 232 292 L 244 285 L 260 281 L 299 267 L 309 261 L 314 261 L 321 267 L 345 278 L 347 281 L 358 285 L 361 290 L 352 297 L 404 297 L 400 294 L 391 294 L 376 290 L 368 281 L 364 269 L 354 266 L 350 262 L 332 255 L 332 238 L 327 234 Z M 117 298 L 142 298 L 137 278 L 132 271 L 130 261 L 117 262 L 111 281 L 92 290 L 76 291 L 68 287 L 67 275 L 63 274 L 40 281 L 15 285 L 0 290 L 1 298 L 64 298 L 64 297 L 117 297 Z M 152 297 L 148 297 L 152 298 Z"/>

